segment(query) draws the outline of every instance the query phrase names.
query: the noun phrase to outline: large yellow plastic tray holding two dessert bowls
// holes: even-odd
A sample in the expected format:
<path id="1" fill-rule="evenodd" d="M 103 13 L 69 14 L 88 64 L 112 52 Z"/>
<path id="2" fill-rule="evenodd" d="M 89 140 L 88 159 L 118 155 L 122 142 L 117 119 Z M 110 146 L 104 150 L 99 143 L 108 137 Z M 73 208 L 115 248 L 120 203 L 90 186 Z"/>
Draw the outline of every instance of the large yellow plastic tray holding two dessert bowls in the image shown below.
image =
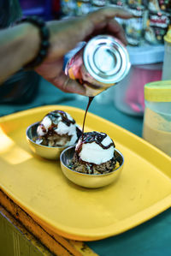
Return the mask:
<path id="1" fill-rule="evenodd" d="M 64 110 L 81 126 L 84 110 L 52 105 L 0 118 L 0 188 L 46 229 L 93 241 L 120 234 L 171 205 L 171 158 L 127 130 L 88 113 L 85 131 L 105 132 L 125 157 L 118 182 L 80 188 L 59 162 L 32 154 L 26 129 L 50 110 Z"/>

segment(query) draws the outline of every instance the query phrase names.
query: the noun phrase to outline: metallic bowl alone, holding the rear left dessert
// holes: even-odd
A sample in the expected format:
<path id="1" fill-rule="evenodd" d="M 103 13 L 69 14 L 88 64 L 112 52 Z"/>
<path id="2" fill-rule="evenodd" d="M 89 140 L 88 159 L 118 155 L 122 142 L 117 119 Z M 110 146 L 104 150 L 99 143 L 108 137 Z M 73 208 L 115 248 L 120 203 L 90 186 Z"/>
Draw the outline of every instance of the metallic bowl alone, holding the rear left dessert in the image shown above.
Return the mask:
<path id="1" fill-rule="evenodd" d="M 28 145 L 30 146 L 32 152 L 37 154 L 38 156 L 42 158 L 47 158 L 50 160 L 56 160 L 59 159 L 60 154 L 63 149 L 66 147 L 62 146 L 44 146 L 36 143 L 34 141 L 34 138 L 38 136 L 37 134 L 37 128 L 38 128 L 39 122 L 32 123 L 28 128 L 27 128 L 27 142 Z"/>

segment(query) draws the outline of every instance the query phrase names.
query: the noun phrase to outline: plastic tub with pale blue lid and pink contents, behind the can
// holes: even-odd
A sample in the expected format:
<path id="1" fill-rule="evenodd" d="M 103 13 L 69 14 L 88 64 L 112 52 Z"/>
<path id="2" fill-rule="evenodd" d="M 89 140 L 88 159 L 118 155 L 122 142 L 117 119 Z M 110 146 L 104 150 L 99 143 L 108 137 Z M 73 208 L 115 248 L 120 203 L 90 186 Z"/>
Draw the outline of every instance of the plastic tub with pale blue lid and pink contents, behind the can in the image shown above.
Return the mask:
<path id="1" fill-rule="evenodd" d="M 127 47 L 132 67 L 129 74 L 113 89 L 118 110 L 131 115 L 144 115 L 144 85 L 162 80 L 164 45 Z"/>

